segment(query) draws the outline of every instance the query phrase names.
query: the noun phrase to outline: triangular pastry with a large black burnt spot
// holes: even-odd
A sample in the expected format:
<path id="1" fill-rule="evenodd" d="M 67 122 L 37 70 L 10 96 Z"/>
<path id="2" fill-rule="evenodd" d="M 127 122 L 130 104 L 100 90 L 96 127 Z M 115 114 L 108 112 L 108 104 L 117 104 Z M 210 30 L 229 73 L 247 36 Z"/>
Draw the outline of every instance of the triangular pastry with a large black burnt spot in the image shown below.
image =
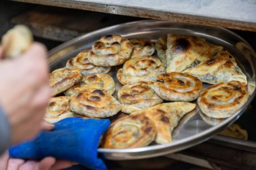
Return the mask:
<path id="1" fill-rule="evenodd" d="M 185 36 L 179 34 L 168 34 L 166 49 L 166 72 L 181 72 L 201 62 L 206 58 L 214 56 L 222 50 L 221 46 L 208 44 L 204 38 Z"/>

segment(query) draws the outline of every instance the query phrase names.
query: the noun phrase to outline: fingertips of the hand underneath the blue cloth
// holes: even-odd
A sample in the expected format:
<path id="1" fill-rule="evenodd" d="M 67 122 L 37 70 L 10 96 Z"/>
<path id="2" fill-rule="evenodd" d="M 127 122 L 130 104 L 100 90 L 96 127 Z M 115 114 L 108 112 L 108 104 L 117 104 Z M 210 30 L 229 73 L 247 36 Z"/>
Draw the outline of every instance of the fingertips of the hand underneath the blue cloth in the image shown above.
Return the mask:
<path id="1" fill-rule="evenodd" d="M 25 161 L 24 159 L 10 159 L 6 152 L 0 158 L 1 170 L 57 170 L 75 165 L 71 161 L 56 160 L 53 157 L 45 157 L 41 161 Z"/>

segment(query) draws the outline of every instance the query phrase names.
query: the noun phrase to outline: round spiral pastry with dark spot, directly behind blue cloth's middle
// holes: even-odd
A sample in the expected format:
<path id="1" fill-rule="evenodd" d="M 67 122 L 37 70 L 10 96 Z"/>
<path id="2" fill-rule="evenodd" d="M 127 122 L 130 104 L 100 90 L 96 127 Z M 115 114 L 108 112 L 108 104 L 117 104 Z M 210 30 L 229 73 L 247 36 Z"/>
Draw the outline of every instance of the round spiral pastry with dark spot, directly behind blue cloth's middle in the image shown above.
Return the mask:
<path id="1" fill-rule="evenodd" d="M 88 89 L 71 95 L 70 109 L 90 118 L 106 118 L 117 114 L 121 104 L 105 90 Z"/>

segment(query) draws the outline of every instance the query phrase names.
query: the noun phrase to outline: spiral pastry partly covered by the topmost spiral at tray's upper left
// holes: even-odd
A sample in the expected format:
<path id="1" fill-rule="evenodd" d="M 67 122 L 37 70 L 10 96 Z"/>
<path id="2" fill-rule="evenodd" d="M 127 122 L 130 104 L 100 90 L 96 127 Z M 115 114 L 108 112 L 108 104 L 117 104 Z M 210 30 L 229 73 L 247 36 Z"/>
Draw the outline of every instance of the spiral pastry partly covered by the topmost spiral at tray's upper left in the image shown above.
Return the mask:
<path id="1" fill-rule="evenodd" d="M 84 50 L 79 52 L 77 56 L 73 58 L 69 58 L 67 60 L 66 67 L 69 69 L 77 68 L 82 73 L 82 75 L 92 75 L 98 73 L 108 73 L 111 67 L 102 67 L 102 66 L 95 66 L 88 60 L 88 54 L 90 50 Z"/>

